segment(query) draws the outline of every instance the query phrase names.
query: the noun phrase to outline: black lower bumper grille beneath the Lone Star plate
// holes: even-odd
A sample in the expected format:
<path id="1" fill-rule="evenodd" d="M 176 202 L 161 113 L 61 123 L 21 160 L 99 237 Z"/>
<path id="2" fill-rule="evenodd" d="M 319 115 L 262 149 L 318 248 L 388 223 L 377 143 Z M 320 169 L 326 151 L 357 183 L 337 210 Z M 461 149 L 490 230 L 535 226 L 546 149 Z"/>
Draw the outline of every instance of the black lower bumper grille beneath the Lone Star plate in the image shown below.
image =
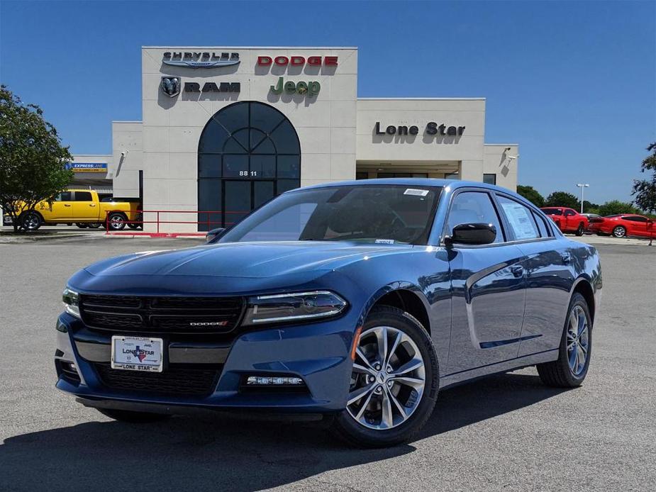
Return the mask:
<path id="1" fill-rule="evenodd" d="M 214 391 L 221 370 L 218 367 L 195 369 L 190 364 L 172 364 L 162 372 L 111 369 L 96 363 L 96 372 L 104 386 L 121 391 L 157 393 L 172 396 L 208 396 Z"/>

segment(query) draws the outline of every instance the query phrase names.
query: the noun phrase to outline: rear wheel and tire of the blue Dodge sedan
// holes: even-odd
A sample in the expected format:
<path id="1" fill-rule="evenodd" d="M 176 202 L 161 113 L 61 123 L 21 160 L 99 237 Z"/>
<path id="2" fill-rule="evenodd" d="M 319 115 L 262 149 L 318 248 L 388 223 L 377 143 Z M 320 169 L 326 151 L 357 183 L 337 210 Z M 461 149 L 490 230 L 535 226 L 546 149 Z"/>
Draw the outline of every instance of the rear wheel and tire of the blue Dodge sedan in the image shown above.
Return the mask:
<path id="1" fill-rule="evenodd" d="M 569 301 L 558 359 L 537 365 L 540 379 L 545 385 L 555 388 L 581 386 L 588 374 L 591 355 L 592 320 L 588 303 L 577 292 Z"/>

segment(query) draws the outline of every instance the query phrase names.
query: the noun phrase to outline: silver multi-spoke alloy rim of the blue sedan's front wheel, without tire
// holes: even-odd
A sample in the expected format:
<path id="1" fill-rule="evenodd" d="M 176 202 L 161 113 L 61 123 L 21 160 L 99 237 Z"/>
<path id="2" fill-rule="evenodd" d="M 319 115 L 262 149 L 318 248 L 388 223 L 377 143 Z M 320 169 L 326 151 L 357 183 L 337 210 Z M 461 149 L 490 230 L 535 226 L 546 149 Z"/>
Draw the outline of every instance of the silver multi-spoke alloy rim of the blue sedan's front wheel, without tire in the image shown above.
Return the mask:
<path id="1" fill-rule="evenodd" d="M 421 402 L 426 367 L 416 343 L 390 326 L 360 335 L 347 410 L 360 425 L 385 430 L 406 422 Z"/>

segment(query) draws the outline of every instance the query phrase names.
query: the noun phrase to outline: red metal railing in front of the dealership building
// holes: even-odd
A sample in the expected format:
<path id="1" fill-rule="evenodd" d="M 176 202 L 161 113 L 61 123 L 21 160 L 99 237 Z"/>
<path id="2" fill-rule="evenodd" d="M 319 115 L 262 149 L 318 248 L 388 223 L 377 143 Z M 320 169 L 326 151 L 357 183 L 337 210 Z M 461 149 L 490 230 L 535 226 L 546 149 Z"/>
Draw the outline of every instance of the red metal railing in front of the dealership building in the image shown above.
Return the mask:
<path id="1" fill-rule="evenodd" d="M 111 220 L 109 217 L 115 213 L 116 211 L 107 211 L 106 216 L 105 216 L 105 231 L 106 234 L 109 235 L 142 235 L 142 236 L 150 236 L 150 237 L 180 237 L 180 236 L 204 236 L 204 232 L 169 232 L 169 231 L 162 231 L 160 228 L 160 224 L 205 224 L 207 225 L 207 230 L 211 230 L 214 228 L 221 227 L 221 215 L 218 216 L 218 220 L 216 218 L 216 214 L 221 214 L 224 213 L 226 215 L 228 214 L 242 214 L 243 216 L 248 215 L 250 211 L 198 211 L 198 210 L 137 210 L 133 211 L 133 213 L 141 214 L 141 220 L 123 220 L 123 223 L 126 225 L 129 224 L 138 224 L 142 226 L 142 230 L 113 230 L 110 226 Z M 161 214 L 178 214 L 178 213 L 206 213 L 207 214 L 207 220 L 162 220 Z M 155 220 L 146 220 L 146 214 L 149 214 L 152 216 L 152 214 L 155 215 Z M 125 215 L 125 213 L 123 213 Z M 226 222 L 225 225 L 233 225 L 237 223 L 239 220 L 235 220 L 233 222 Z M 150 231 L 145 231 L 143 230 L 143 227 L 145 224 L 157 224 L 157 228 L 155 232 L 150 232 Z"/>

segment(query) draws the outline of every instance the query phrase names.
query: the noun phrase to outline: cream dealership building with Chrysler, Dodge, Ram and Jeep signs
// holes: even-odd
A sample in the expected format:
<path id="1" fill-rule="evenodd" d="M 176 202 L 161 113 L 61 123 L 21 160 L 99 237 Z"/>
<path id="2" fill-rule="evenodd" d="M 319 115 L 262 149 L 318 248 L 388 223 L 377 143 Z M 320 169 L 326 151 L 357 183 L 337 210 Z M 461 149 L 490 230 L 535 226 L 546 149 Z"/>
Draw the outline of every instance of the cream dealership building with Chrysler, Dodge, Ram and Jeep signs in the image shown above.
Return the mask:
<path id="1" fill-rule="evenodd" d="M 516 188 L 518 146 L 485 143 L 484 98 L 358 98 L 357 48 L 141 54 L 142 121 L 113 121 L 112 155 L 76 155 L 72 165 L 76 185 L 140 196 L 145 210 L 166 211 L 160 220 L 201 212 L 198 226 L 160 230 L 229 226 L 277 194 L 328 181 L 446 177 Z"/>

